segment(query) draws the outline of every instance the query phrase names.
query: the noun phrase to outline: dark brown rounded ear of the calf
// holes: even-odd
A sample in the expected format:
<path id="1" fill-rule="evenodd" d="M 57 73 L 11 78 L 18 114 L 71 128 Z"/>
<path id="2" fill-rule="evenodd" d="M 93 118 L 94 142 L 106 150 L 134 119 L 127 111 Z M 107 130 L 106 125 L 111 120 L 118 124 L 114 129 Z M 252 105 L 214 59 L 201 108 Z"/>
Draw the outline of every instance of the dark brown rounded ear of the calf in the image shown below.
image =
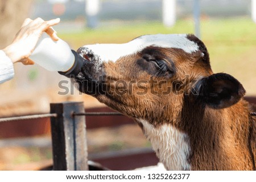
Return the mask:
<path id="1" fill-rule="evenodd" d="M 195 91 L 198 99 L 215 109 L 230 107 L 245 95 L 242 84 L 225 73 L 200 79 L 196 83 Z"/>

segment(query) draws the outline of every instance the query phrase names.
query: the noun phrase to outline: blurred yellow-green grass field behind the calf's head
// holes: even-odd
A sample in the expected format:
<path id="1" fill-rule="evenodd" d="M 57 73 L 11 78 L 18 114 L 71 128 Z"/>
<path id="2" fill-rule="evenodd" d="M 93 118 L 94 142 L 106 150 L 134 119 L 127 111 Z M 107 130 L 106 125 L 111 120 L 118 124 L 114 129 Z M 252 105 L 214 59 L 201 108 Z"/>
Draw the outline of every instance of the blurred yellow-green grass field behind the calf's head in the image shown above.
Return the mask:
<path id="1" fill-rule="evenodd" d="M 96 43 L 126 43 L 135 37 L 155 33 L 193 33 L 193 20 L 178 20 L 167 28 L 160 22 L 110 25 L 80 32 L 59 33 L 73 49 Z M 214 73 L 236 77 L 247 95 L 256 95 L 256 24 L 249 17 L 201 20 L 201 39 L 210 54 Z"/>

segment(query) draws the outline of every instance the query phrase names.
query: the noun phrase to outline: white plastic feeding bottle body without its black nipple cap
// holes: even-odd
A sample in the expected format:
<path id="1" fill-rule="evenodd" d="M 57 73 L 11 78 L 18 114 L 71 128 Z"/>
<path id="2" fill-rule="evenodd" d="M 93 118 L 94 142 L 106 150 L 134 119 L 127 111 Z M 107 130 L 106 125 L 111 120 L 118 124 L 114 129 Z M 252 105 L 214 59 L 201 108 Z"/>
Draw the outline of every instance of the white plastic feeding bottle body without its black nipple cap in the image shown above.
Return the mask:
<path id="1" fill-rule="evenodd" d="M 53 41 L 45 32 L 36 44 L 30 59 L 49 71 L 68 71 L 75 62 L 69 45 L 61 39 Z"/>

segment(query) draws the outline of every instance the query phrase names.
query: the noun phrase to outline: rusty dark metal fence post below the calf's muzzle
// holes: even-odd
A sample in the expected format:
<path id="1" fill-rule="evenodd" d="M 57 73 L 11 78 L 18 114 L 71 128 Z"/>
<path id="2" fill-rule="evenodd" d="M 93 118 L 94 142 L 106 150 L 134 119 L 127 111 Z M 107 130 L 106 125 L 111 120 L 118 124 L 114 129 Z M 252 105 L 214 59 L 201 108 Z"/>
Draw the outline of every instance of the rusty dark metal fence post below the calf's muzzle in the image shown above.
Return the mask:
<path id="1" fill-rule="evenodd" d="M 82 102 L 51 104 L 53 170 L 88 170 L 85 116 L 73 113 L 84 112 Z"/>

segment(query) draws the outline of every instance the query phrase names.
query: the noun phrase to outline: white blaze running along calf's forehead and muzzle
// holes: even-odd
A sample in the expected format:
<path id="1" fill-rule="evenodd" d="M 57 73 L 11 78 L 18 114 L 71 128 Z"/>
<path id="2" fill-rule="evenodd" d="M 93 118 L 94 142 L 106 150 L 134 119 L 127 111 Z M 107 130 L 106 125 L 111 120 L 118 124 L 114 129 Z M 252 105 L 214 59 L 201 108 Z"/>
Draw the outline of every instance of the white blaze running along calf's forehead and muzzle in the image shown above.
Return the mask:
<path id="1" fill-rule="evenodd" d="M 178 48 L 187 53 L 199 50 L 195 42 L 187 39 L 187 34 L 144 35 L 125 44 L 94 44 L 82 47 L 92 50 L 94 54 L 100 56 L 101 61 L 115 62 L 123 56 L 135 54 L 148 46 Z"/>

